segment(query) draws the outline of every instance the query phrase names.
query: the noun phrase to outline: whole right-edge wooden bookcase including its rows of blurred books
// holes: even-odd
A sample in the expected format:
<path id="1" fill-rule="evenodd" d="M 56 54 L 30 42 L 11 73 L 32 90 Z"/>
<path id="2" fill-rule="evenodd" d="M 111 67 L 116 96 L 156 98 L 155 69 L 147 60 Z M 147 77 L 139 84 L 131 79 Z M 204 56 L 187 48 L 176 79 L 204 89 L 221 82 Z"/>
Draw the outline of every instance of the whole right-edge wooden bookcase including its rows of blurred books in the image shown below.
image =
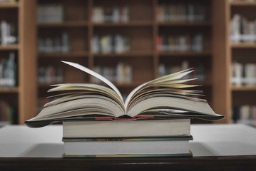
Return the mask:
<path id="1" fill-rule="evenodd" d="M 247 68 L 254 68 L 256 43 L 252 40 L 250 32 L 237 31 L 236 20 L 250 25 L 251 21 L 256 20 L 255 2 L 249 1 L 216 1 L 217 6 L 221 6 L 220 13 L 215 19 L 215 51 L 219 51 L 219 56 L 215 58 L 213 65 L 218 65 L 213 72 L 215 75 L 215 90 L 220 93 L 223 104 L 215 101 L 215 105 L 220 106 L 220 111 L 227 113 L 227 123 L 242 122 L 255 125 L 255 118 L 252 113 L 255 110 L 256 86 L 253 73 Z M 240 18 L 241 17 L 241 18 Z M 230 24 L 232 22 L 232 24 Z M 241 28 L 241 31 L 244 31 Z M 246 28 L 247 29 L 247 28 Z M 249 31 L 250 29 L 248 29 Z M 231 36 L 230 36 L 231 31 Z M 250 36 L 246 36 L 250 34 Z M 217 40 L 218 39 L 218 40 Z M 250 65 L 248 65 L 250 64 Z M 243 71 L 240 71 L 242 69 Z M 241 76 L 239 76 L 239 74 Z M 237 80 L 238 79 L 238 80 Z M 249 119 L 249 120 L 248 120 Z"/>

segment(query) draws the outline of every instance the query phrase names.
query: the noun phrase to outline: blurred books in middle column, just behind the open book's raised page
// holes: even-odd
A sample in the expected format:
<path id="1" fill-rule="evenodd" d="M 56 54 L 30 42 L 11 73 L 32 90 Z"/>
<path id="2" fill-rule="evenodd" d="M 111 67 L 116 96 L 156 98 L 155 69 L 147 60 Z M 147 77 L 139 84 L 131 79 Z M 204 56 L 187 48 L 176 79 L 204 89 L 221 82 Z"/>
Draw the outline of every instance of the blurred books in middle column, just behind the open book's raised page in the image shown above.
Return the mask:
<path id="1" fill-rule="evenodd" d="M 96 66 L 94 71 L 111 82 L 132 83 L 133 81 L 133 68 L 127 63 L 119 62 L 116 67 Z M 100 83 L 101 81 L 93 77 L 93 82 Z"/>

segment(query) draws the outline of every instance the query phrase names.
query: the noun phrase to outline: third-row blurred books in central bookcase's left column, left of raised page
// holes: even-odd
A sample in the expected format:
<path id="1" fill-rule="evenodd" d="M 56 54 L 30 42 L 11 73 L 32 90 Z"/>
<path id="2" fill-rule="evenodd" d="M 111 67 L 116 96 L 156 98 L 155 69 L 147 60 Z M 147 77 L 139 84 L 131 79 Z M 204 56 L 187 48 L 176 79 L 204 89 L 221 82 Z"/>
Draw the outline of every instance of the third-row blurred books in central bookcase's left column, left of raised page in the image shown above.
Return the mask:
<path id="1" fill-rule="evenodd" d="M 63 82 L 63 68 L 61 67 L 39 67 L 38 81 L 42 84 L 62 83 Z"/>

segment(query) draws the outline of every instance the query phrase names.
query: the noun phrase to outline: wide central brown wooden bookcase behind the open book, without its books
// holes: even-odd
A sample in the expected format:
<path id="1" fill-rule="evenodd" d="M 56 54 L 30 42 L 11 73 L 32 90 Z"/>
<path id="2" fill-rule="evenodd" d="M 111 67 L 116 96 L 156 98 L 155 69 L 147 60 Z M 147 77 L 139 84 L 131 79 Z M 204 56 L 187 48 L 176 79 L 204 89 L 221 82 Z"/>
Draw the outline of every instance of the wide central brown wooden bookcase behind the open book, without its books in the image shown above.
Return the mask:
<path id="1" fill-rule="evenodd" d="M 177 4 L 176 1 L 173 1 Z M 93 83 L 93 78 L 82 72 L 73 70 L 61 60 L 75 61 L 88 68 L 96 66 L 115 67 L 123 62 L 132 66 L 132 82 L 118 83 L 116 86 L 126 94 L 135 86 L 150 81 L 159 76 L 159 65 L 165 63 L 170 67 L 172 64 L 180 65 L 182 61 L 188 61 L 190 66 L 203 63 L 205 79 L 197 83 L 203 84 L 207 100 L 213 104 L 215 94 L 213 93 L 213 4 L 215 2 L 193 1 L 195 6 L 203 6 L 204 19 L 190 19 L 190 21 L 160 21 L 158 19 L 160 6 L 170 5 L 171 1 L 163 0 L 141 0 L 141 1 L 103 1 L 103 0 L 74 0 L 50 1 L 38 0 L 36 6 L 57 5 L 63 8 L 63 20 L 58 22 L 41 22 L 37 24 L 37 37 L 51 37 L 61 32 L 68 33 L 69 51 L 66 53 L 38 53 L 38 68 L 41 66 L 61 66 L 64 68 L 63 81 L 65 83 Z M 181 5 L 188 6 L 189 1 L 180 1 Z M 128 9 L 128 19 L 124 21 L 93 21 L 93 10 L 103 10 L 103 6 L 116 8 L 119 11 Z M 116 10 L 113 9 L 113 10 Z M 124 14 L 126 12 L 123 12 Z M 123 14 L 123 15 L 124 15 Z M 121 15 L 121 14 L 120 14 Z M 101 17 L 101 16 L 100 16 Z M 121 17 L 121 16 L 120 16 Z M 122 18 L 120 18 L 121 20 Z M 201 51 L 165 51 L 159 52 L 156 41 L 162 34 L 172 33 L 183 36 L 189 33 L 191 36 L 202 33 L 203 49 Z M 130 51 L 122 53 L 93 53 L 93 36 L 115 36 L 120 34 L 129 38 Z M 108 40 L 109 38 L 107 38 Z M 111 39 L 111 38 L 110 38 Z M 47 83 L 37 85 L 39 99 L 46 97 Z M 217 107 L 216 107 L 217 108 Z M 35 114 L 36 115 L 36 114 Z"/>

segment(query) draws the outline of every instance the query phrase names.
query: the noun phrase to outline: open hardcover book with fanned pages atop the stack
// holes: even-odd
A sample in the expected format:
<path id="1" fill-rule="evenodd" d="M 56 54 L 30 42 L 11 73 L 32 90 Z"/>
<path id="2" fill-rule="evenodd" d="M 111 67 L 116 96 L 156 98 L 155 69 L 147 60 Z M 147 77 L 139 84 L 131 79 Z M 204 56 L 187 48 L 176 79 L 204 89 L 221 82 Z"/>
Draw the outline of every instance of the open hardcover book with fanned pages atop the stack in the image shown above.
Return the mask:
<path id="1" fill-rule="evenodd" d="M 193 72 L 187 69 L 168 76 L 156 78 L 138 86 L 123 100 L 118 88 L 98 73 L 79 65 L 63 61 L 70 66 L 94 76 L 108 86 L 91 83 L 66 83 L 53 85 L 49 92 L 57 98 L 44 105 L 35 118 L 25 123 L 41 127 L 64 120 L 145 120 L 200 118 L 219 120 L 200 90 L 191 90 L 197 85 L 187 85 L 192 79 L 182 79 Z"/>

